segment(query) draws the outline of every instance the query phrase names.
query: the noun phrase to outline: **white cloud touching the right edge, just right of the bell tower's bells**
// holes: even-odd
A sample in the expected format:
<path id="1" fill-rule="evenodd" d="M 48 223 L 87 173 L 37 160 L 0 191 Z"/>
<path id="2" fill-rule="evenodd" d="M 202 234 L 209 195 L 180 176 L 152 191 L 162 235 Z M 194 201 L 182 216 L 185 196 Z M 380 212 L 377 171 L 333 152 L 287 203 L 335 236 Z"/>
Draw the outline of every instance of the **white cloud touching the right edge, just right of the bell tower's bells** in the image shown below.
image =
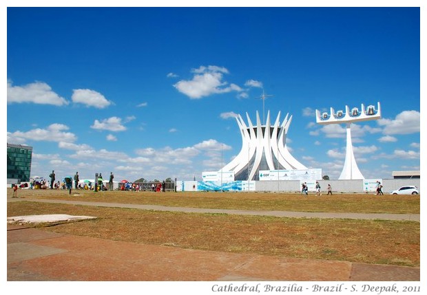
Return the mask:
<path id="1" fill-rule="evenodd" d="M 420 114 L 419 111 L 402 111 L 394 120 L 379 119 L 379 126 L 383 126 L 383 133 L 392 134 L 410 134 L 419 132 Z"/>

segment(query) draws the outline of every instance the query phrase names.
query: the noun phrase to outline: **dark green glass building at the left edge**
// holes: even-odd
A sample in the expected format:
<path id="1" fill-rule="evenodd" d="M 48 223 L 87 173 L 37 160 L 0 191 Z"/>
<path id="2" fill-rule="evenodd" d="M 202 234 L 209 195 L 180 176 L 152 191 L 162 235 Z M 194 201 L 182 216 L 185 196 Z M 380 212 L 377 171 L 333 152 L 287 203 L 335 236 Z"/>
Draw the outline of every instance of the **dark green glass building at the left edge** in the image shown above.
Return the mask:
<path id="1" fill-rule="evenodd" d="M 8 179 L 29 182 L 31 173 L 32 146 L 8 144 Z"/>

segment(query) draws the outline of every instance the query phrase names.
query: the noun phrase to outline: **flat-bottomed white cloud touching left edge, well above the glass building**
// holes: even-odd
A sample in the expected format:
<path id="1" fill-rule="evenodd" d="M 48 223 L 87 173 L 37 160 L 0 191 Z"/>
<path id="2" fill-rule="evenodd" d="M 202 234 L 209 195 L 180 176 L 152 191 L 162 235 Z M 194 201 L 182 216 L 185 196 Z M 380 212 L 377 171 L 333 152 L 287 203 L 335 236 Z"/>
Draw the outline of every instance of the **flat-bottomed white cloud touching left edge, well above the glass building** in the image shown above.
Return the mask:
<path id="1" fill-rule="evenodd" d="M 30 83 L 24 86 L 12 86 L 8 81 L 8 103 L 32 102 L 39 105 L 68 105 L 68 101 L 52 91 L 52 88 L 42 82 Z"/>

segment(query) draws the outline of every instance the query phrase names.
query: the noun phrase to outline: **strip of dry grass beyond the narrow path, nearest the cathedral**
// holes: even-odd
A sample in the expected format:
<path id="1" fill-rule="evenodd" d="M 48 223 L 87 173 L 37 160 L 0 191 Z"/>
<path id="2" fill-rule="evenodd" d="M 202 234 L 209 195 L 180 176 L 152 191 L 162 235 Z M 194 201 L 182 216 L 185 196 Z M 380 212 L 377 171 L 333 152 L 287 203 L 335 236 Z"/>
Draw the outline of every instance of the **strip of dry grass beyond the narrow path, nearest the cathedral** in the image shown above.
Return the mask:
<path id="1" fill-rule="evenodd" d="M 8 195 L 12 190 L 8 188 Z M 79 196 L 74 196 L 79 194 Z M 286 210 L 304 212 L 366 212 L 419 214 L 419 195 L 335 194 L 305 197 L 298 193 L 152 193 L 72 190 L 19 190 L 26 199 L 78 199 L 125 204 L 150 204 L 176 207 Z"/>

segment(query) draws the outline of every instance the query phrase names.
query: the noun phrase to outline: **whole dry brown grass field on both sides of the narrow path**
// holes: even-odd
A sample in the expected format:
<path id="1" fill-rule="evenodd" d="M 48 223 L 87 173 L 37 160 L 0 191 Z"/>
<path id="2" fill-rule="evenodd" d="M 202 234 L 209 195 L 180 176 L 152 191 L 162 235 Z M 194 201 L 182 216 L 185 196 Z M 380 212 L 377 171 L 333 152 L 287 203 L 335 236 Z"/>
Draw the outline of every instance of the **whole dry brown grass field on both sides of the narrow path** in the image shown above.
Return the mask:
<path id="1" fill-rule="evenodd" d="M 19 190 L 18 193 L 25 199 L 8 202 L 8 217 L 41 214 L 98 217 L 55 226 L 38 225 L 43 230 L 200 250 L 419 266 L 418 221 L 158 212 L 32 201 L 78 199 L 194 208 L 419 214 L 419 195 L 380 197 L 337 194 L 304 197 L 284 193 L 94 193 L 81 190 L 73 190 L 71 196 L 65 190 Z M 12 190 L 8 188 L 8 197 L 11 195 Z"/>

